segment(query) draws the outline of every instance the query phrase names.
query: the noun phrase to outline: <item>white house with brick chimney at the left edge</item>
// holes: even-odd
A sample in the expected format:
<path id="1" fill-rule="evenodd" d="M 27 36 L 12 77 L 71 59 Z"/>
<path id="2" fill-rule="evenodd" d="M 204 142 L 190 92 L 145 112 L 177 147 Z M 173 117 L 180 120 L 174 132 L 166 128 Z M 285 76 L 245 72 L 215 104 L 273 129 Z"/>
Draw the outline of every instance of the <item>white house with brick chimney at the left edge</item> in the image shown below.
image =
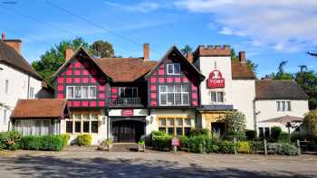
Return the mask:
<path id="1" fill-rule="evenodd" d="M 19 98 L 38 98 L 43 80 L 21 55 L 21 40 L 0 40 L 0 132 L 9 128 L 9 118 Z"/>

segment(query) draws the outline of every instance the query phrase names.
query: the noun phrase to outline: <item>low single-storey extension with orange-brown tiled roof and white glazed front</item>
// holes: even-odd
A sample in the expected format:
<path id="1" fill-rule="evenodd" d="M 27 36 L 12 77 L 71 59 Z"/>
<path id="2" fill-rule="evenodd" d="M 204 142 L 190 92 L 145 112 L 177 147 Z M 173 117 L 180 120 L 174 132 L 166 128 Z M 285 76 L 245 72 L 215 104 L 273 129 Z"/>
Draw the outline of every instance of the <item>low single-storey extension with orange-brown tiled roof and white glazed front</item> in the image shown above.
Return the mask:
<path id="1" fill-rule="evenodd" d="M 24 136 L 58 135 L 65 133 L 69 108 L 62 98 L 19 99 L 10 118 Z"/>

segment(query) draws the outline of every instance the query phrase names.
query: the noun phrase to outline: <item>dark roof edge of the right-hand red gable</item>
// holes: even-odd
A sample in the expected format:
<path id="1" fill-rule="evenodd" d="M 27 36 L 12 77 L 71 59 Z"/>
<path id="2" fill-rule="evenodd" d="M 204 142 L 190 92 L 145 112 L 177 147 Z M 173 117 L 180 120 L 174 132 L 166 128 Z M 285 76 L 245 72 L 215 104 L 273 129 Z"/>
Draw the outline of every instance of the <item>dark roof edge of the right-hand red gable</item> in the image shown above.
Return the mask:
<path id="1" fill-rule="evenodd" d="M 175 52 L 176 54 L 178 54 L 178 56 L 180 57 L 181 60 L 183 60 L 190 68 L 192 68 L 194 71 L 197 72 L 197 74 L 199 75 L 199 79 L 200 80 L 204 80 L 205 76 L 197 69 L 197 67 L 192 64 L 190 61 L 187 60 L 187 58 L 178 50 L 178 47 L 176 46 L 172 46 L 168 52 L 165 53 L 165 55 L 159 60 L 159 62 L 156 64 L 156 66 L 154 66 L 152 68 L 152 70 L 149 71 L 149 73 L 145 76 L 145 79 L 148 79 L 155 70 L 159 69 L 159 66 L 162 64 L 163 61 L 168 59 L 169 54 L 171 54 L 172 52 Z"/>

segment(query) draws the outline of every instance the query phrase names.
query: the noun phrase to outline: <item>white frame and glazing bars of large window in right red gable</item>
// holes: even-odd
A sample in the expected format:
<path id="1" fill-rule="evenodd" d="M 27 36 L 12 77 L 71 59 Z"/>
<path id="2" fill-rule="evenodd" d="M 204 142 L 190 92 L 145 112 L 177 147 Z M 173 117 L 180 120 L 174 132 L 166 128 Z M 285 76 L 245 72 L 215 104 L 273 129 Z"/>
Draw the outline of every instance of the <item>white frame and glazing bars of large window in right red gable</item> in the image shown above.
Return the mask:
<path id="1" fill-rule="evenodd" d="M 172 86 L 173 87 L 173 91 L 168 91 L 168 86 Z M 176 86 L 180 86 L 180 91 L 176 91 Z M 183 91 L 183 88 L 187 87 L 188 88 L 188 91 Z M 161 91 L 162 88 L 165 88 L 166 91 Z M 185 90 L 185 89 L 184 89 Z M 168 104 L 168 94 L 174 94 L 173 95 L 173 98 L 174 98 L 174 101 L 173 103 L 174 104 Z M 167 100 L 167 103 L 166 104 L 162 104 L 161 103 L 161 95 L 165 94 L 166 95 L 166 100 Z M 176 105 L 176 94 L 180 94 L 181 98 L 180 98 L 180 104 L 179 105 Z M 188 103 L 184 103 L 184 94 L 187 94 L 188 95 Z M 190 105 L 190 95 L 189 95 L 189 86 L 187 85 L 160 85 L 159 86 L 159 106 L 189 106 Z"/>

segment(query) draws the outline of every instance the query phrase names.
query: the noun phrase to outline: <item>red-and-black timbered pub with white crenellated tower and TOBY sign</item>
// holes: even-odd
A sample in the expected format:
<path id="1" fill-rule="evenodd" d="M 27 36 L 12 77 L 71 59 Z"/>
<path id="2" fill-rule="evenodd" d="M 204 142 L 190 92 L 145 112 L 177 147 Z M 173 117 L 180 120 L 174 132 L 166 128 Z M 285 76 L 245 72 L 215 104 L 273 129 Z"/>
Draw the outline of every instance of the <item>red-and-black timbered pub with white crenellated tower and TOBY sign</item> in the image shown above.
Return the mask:
<path id="1" fill-rule="evenodd" d="M 154 130 L 182 136 L 203 127 L 221 135 L 221 118 L 238 110 L 245 114 L 247 129 L 264 135 L 275 126 L 264 120 L 303 117 L 308 111 L 307 96 L 294 82 L 283 90 L 283 98 L 274 98 L 279 92 L 274 86 L 256 87 L 262 80 L 247 67 L 245 52 L 239 52 L 240 61 L 230 56 L 228 45 L 199 45 L 186 56 L 172 46 L 159 61 L 149 60 L 149 43 L 141 58 L 93 58 L 82 48 L 67 48 L 66 61 L 52 78 L 54 98 L 66 99 L 70 110 L 59 119 L 57 133 L 70 133 L 71 142 L 79 134 L 91 134 L 93 145 L 106 138 L 138 142 Z M 272 98 L 260 98 L 260 90 Z"/>

